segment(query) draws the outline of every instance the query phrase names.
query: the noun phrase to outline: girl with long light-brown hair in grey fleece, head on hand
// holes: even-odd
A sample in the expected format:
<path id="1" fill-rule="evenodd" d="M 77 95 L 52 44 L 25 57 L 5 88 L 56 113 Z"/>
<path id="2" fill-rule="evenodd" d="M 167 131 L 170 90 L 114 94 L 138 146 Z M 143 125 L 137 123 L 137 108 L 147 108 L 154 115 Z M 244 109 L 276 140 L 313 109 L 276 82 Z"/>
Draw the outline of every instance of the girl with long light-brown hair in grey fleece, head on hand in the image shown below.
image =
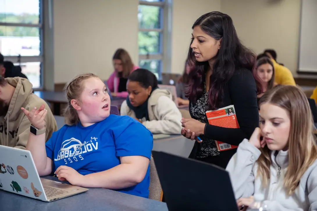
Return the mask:
<path id="1" fill-rule="evenodd" d="M 317 146 L 307 97 L 295 86 L 276 86 L 260 108 L 260 128 L 226 168 L 238 207 L 249 206 L 254 195 L 268 211 L 317 210 Z"/>

